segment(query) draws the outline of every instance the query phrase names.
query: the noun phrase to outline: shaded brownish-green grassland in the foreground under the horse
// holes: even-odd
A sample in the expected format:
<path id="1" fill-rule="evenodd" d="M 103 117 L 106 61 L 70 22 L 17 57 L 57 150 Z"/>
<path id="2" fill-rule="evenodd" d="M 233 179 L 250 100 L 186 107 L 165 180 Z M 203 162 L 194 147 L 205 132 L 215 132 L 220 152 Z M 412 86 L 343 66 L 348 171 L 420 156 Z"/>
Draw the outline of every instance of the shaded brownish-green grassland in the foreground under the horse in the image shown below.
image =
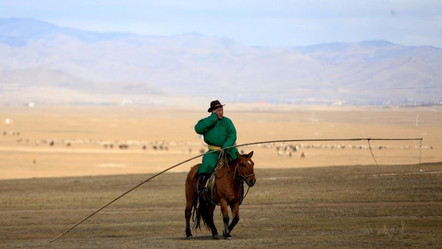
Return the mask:
<path id="1" fill-rule="evenodd" d="M 257 169 L 233 240 L 185 239 L 185 173 L 154 178 L 52 243 L 150 175 L 0 180 L 0 247 L 440 248 L 441 166 Z"/>

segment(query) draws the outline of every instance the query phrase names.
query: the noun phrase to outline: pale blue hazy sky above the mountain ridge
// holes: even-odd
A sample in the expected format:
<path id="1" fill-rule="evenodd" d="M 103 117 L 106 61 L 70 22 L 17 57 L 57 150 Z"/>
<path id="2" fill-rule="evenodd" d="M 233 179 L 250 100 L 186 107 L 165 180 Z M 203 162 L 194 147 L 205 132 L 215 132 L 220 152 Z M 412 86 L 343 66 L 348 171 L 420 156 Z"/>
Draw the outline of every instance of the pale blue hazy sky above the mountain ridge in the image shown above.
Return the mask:
<path id="1" fill-rule="evenodd" d="M 384 39 L 442 48 L 441 0 L 0 0 L 0 18 L 99 32 L 200 33 L 246 45 Z"/>

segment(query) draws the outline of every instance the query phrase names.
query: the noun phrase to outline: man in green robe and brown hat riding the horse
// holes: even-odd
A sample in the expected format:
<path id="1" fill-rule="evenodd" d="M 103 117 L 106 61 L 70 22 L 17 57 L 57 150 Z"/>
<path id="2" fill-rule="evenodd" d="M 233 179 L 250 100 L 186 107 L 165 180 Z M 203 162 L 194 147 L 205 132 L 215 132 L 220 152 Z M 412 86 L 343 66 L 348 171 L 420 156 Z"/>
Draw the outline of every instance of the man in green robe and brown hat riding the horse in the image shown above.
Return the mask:
<path id="1" fill-rule="evenodd" d="M 218 100 L 210 102 L 210 116 L 198 121 L 195 125 L 195 132 L 204 136 L 204 142 L 207 143 L 209 151 L 218 150 L 216 152 L 203 155 L 202 165 L 199 167 L 197 174 L 198 179 L 198 195 L 206 200 L 207 187 L 206 182 L 210 178 L 213 169 L 215 168 L 221 148 L 230 147 L 236 143 L 236 129 L 232 120 L 224 116 L 224 108 Z M 237 159 L 236 147 L 226 149 L 227 160 L 229 162 Z M 243 193 L 243 191 L 242 191 Z M 242 194 L 241 194 L 242 196 Z"/>

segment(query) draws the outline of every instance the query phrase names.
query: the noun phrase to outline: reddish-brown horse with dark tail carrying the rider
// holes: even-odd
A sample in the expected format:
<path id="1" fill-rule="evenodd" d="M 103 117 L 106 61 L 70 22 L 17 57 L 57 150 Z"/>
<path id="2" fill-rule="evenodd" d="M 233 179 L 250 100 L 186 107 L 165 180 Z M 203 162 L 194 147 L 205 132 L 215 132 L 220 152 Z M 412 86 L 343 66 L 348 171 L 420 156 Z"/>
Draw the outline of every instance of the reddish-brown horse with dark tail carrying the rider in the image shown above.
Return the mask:
<path id="1" fill-rule="evenodd" d="M 195 230 L 200 228 L 200 219 L 203 219 L 204 225 L 208 230 L 212 232 L 213 239 L 219 239 L 218 232 L 215 224 L 213 223 L 213 210 L 216 204 L 221 207 L 223 213 L 224 238 L 230 239 L 232 236 L 230 233 L 235 225 L 239 221 L 239 204 L 241 198 L 241 189 L 245 182 L 248 186 L 255 185 L 256 178 L 254 172 L 255 163 L 251 161 L 253 151 L 248 154 L 237 153 L 238 159 L 225 165 L 217 171 L 215 184 L 210 195 L 210 200 L 200 200 L 198 204 L 197 183 L 198 175 L 197 170 L 201 164 L 197 164 L 191 168 L 186 178 L 185 192 L 186 192 L 186 236 L 192 237 L 190 228 L 190 220 L 193 212 L 196 212 Z M 213 178 L 213 177 L 212 177 Z M 210 191 L 210 190 L 209 190 Z M 216 204 L 215 204 L 216 203 Z M 229 224 L 229 210 L 230 206 L 232 210 L 233 219 Z"/>

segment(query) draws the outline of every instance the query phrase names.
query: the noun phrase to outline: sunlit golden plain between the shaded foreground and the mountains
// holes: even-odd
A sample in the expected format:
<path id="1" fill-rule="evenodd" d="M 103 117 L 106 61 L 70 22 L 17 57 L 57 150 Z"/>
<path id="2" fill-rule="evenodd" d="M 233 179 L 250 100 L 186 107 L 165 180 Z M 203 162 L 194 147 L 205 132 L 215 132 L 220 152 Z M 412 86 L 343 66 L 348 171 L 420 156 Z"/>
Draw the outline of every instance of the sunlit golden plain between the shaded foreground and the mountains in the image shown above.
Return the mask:
<path id="1" fill-rule="evenodd" d="M 205 106 L 199 110 L 186 106 L 3 107 L 0 179 L 160 172 L 206 150 L 194 125 L 207 115 Z M 440 107 L 232 103 L 225 106 L 225 116 L 235 124 L 239 145 L 309 139 L 423 139 L 422 148 L 420 140 L 370 140 L 371 151 L 367 140 L 294 141 L 240 147 L 245 152 L 255 151 L 256 168 L 442 161 Z M 119 145 L 128 148 L 120 149 Z M 289 150 L 283 149 L 286 145 L 297 146 L 298 150 L 291 150 L 290 155 Z M 301 159 L 301 153 L 305 158 Z M 200 161 L 197 158 L 170 172 L 187 171 Z"/>

